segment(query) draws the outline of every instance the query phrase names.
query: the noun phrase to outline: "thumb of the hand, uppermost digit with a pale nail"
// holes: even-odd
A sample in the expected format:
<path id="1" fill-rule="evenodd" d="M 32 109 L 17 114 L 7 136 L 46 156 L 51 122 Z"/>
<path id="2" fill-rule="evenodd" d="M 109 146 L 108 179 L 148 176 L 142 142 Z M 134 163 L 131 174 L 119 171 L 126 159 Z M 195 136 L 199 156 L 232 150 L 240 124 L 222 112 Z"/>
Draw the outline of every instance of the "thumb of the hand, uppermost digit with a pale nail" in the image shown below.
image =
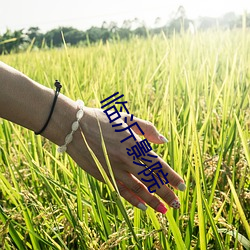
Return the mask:
<path id="1" fill-rule="evenodd" d="M 137 118 L 133 116 L 133 119 L 127 119 L 127 124 L 131 125 L 132 123 L 137 122 L 141 130 L 144 132 L 144 137 L 147 138 L 150 142 L 161 144 L 166 143 L 168 140 L 159 133 L 159 131 L 156 129 L 156 127 L 153 125 L 153 123 L 149 121 L 142 120 L 140 118 Z M 138 135 L 142 135 L 140 129 L 136 126 L 133 126 L 132 128 L 134 132 Z"/>

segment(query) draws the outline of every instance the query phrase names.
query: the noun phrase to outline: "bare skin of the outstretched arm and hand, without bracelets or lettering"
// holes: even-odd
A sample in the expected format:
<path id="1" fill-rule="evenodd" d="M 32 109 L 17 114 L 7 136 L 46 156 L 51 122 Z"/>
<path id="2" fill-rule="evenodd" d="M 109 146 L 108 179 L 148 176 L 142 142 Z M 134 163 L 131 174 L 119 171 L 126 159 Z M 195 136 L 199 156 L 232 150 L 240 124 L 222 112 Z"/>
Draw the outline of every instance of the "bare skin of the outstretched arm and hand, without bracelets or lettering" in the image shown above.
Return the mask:
<path id="1" fill-rule="evenodd" d="M 2 62 L 0 62 L 0 89 L 0 117 L 29 130 L 39 131 L 50 112 L 54 90 L 33 81 Z M 59 94 L 54 113 L 42 136 L 59 146 L 63 145 L 65 136 L 70 133 L 71 125 L 76 120 L 77 111 L 78 108 L 75 101 L 63 94 Z M 127 113 L 121 113 L 121 118 L 114 121 L 112 125 L 123 123 L 122 127 L 125 128 L 127 126 L 124 123 L 126 116 L 128 118 L 128 125 L 138 122 L 140 128 L 145 133 L 144 137 L 148 141 L 157 144 L 163 143 L 152 123 L 137 117 L 134 117 L 131 122 L 130 115 Z M 160 198 L 168 205 L 171 205 L 173 201 L 178 200 L 178 197 L 167 185 L 163 185 L 161 188 L 156 187 L 157 196 L 148 191 L 147 186 L 150 183 L 143 183 L 140 180 L 141 176 L 138 176 L 143 167 L 133 164 L 132 157 L 127 155 L 126 148 L 131 148 L 136 142 L 131 138 L 120 143 L 130 133 L 127 130 L 119 133 L 114 132 L 115 128 L 109 123 L 103 110 L 84 107 L 84 116 L 80 121 L 80 129 L 75 132 L 73 141 L 67 147 L 67 153 L 83 170 L 96 179 L 103 181 L 81 133 L 83 132 L 88 145 L 94 151 L 108 174 L 97 120 L 99 120 L 102 129 L 109 160 L 120 194 L 134 206 L 148 204 L 156 211 L 165 213 L 165 205 Z M 135 129 L 134 132 L 137 141 L 141 141 L 138 136 L 140 135 L 140 131 Z M 156 155 L 152 151 L 150 153 Z M 161 162 L 163 172 L 168 173 L 167 179 L 171 186 L 177 189 L 180 183 L 184 183 L 183 179 L 159 156 L 157 159 L 153 159 L 152 163 L 145 162 L 145 164 L 150 166 L 157 161 Z"/>

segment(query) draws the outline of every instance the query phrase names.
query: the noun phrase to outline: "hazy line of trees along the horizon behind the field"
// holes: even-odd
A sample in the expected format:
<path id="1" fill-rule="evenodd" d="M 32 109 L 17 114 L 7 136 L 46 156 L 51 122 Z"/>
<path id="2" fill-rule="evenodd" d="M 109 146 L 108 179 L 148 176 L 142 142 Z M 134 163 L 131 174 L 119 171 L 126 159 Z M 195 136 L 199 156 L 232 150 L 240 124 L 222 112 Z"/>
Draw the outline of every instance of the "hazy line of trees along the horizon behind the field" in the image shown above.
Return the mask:
<path id="1" fill-rule="evenodd" d="M 3 35 L 0 35 L 0 54 L 24 51 L 29 47 L 33 49 L 61 47 L 63 45 L 62 34 L 68 46 L 84 46 L 100 41 L 106 43 L 111 40 L 128 40 L 134 36 L 147 37 L 160 33 L 171 36 L 173 32 L 179 33 L 188 30 L 196 32 L 196 30 L 211 28 L 239 28 L 243 25 L 243 19 L 245 26 L 250 27 L 250 14 L 245 14 L 245 17 L 242 18 L 242 16 L 230 12 L 219 19 L 202 17 L 191 20 L 186 17 L 185 9 L 180 6 L 175 17 L 164 25 L 161 25 L 160 18 L 156 18 L 153 28 L 146 28 L 143 21 L 135 18 L 125 20 L 121 27 L 118 27 L 115 22 L 109 24 L 103 22 L 101 27 L 91 27 L 86 31 L 73 27 L 58 27 L 46 33 L 42 33 L 39 27 L 30 27 L 27 31 L 7 29 Z"/>

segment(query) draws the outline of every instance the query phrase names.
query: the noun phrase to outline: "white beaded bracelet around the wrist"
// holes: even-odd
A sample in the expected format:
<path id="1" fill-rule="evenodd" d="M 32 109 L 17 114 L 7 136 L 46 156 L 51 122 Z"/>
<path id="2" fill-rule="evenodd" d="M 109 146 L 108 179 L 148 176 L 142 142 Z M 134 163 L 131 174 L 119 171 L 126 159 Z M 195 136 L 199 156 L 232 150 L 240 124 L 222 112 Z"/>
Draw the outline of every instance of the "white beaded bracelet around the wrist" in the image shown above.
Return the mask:
<path id="1" fill-rule="evenodd" d="M 76 113 L 76 121 L 72 123 L 71 126 L 71 132 L 65 137 L 64 144 L 60 147 L 58 147 L 57 152 L 63 153 L 67 150 L 68 144 L 70 144 L 73 140 L 73 134 L 76 132 L 76 130 L 79 128 L 79 122 L 82 119 L 84 115 L 83 107 L 84 107 L 84 102 L 81 100 L 77 100 L 77 107 L 79 110 Z"/>

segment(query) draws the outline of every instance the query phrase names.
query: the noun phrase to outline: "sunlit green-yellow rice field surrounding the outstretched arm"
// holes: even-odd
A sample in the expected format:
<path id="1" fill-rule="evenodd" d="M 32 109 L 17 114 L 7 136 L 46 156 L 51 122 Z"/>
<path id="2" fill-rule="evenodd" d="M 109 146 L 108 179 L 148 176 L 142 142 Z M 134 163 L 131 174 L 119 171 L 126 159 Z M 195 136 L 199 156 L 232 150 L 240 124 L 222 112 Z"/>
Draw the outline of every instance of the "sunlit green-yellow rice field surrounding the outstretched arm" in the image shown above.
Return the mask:
<path id="1" fill-rule="evenodd" d="M 59 79 L 90 107 L 124 94 L 129 111 L 169 139 L 152 147 L 187 185 L 176 191 L 178 211 L 142 212 L 46 139 L 0 119 L 0 249 L 250 249 L 249 30 L 0 59 L 51 88 Z"/>

